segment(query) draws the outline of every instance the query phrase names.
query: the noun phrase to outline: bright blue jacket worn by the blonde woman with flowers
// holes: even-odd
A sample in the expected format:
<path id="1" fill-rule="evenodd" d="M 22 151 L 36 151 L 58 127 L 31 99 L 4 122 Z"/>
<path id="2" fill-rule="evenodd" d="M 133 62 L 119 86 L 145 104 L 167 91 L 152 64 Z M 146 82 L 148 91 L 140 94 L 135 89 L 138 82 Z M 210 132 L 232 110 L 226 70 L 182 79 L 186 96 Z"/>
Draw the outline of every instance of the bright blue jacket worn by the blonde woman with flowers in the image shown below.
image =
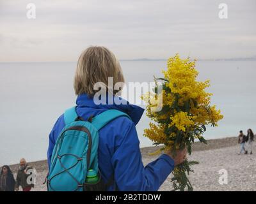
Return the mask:
<path id="1" fill-rule="evenodd" d="M 141 161 L 140 141 L 135 125 L 143 114 L 143 108 L 135 105 L 95 105 L 93 98 L 86 94 L 77 97 L 77 115 L 87 120 L 91 115 L 98 115 L 108 109 L 116 109 L 127 113 L 127 117 L 119 117 L 99 131 L 99 168 L 104 182 L 115 175 L 115 183 L 119 191 L 157 191 L 168 175 L 173 171 L 174 161 L 162 154 L 155 161 L 143 166 Z M 49 136 L 47 152 L 50 166 L 54 144 L 64 128 L 63 115 L 57 120 Z M 113 191 L 109 187 L 109 191 Z"/>

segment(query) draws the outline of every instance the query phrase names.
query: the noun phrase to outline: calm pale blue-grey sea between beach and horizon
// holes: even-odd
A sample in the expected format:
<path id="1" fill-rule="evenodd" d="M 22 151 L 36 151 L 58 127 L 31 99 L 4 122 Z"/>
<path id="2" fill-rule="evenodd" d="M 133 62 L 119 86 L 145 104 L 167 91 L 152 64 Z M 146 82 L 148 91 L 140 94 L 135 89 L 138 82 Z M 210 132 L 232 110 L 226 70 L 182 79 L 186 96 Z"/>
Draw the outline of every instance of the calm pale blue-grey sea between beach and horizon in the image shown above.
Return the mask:
<path id="1" fill-rule="evenodd" d="M 165 61 L 122 61 L 127 82 L 152 82 L 161 76 Z M 63 111 L 73 106 L 76 62 L 0 63 L 0 165 L 46 158 L 48 135 Z M 256 131 L 256 61 L 200 61 L 199 80 L 211 80 L 212 104 L 225 118 L 218 128 L 208 128 L 205 138 L 236 136 L 240 129 Z M 141 147 L 149 120 L 137 126 Z"/>

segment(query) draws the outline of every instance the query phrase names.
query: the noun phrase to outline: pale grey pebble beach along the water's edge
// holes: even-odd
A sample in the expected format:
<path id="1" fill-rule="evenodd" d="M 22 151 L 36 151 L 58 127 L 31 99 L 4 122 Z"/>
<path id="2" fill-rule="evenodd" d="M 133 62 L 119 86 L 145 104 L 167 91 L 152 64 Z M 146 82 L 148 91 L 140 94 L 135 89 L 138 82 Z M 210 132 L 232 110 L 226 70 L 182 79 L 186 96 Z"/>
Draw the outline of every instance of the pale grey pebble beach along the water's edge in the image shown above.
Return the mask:
<path id="1" fill-rule="evenodd" d="M 154 152 L 159 147 L 141 148 L 143 164 L 147 165 L 157 158 L 148 153 Z M 256 147 L 253 145 L 254 154 L 239 153 L 239 144 L 236 137 L 208 140 L 208 144 L 196 142 L 189 160 L 199 161 L 193 166 L 195 173 L 189 175 L 189 180 L 194 191 L 255 191 L 256 189 Z M 36 170 L 36 185 L 32 191 L 46 191 L 43 184 L 47 175 L 47 161 L 29 163 Z M 16 177 L 18 165 L 10 166 Z M 223 182 L 221 176 L 227 175 Z M 159 191 L 172 191 L 172 173 L 160 187 Z"/>

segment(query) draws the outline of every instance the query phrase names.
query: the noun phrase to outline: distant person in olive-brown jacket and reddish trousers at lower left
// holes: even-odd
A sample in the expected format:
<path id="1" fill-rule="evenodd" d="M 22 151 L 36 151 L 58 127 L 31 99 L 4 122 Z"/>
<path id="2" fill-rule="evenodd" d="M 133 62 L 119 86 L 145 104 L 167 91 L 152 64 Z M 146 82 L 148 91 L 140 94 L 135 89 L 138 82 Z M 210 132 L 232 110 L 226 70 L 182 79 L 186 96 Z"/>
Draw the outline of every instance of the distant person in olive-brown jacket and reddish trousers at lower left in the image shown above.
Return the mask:
<path id="1" fill-rule="evenodd" d="M 32 166 L 28 166 L 25 159 L 20 159 L 20 167 L 17 173 L 15 191 L 19 191 L 19 186 L 22 187 L 23 191 L 30 191 L 34 184 L 28 184 L 28 177 L 30 173 L 28 170 L 32 170 Z"/>

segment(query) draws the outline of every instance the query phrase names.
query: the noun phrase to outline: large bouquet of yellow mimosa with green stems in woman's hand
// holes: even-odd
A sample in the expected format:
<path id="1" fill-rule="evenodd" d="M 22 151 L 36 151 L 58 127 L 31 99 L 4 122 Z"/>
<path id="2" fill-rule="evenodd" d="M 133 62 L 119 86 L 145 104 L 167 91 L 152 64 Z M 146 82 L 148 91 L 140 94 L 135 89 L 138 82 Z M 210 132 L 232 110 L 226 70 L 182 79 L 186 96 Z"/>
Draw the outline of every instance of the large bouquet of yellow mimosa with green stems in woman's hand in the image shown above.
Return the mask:
<path id="1" fill-rule="evenodd" d="M 186 148 L 191 154 L 191 145 L 196 138 L 207 143 L 202 136 L 206 131 L 205 126 L 217 126 L 218 120 L 223 118 L 220 110 L 216 110 L 215 105 L 211 106 L 212 94 L 205 91 L 209 87 L 209 80 L 196 81 L 198 71 L 195 63 L 189 58 L 180 59 L 179 54 L 170 57 L 167 70 L 163 70 L 164 77 L 154 78 L 154 91 L 142 96 L 148 103 L 147 116 L 153 120 L 149 128 L 144 130 L 144 136 L 152 140 L 154 145 L 164 145 L 158 150 L 159 153 L 163 150 L 175 155 L 177 150 Z M 156 111 L 159 105 L 161 108 Z M 182 164 L 175 166 L 172 178 L 175 191 L 193 191 L 187 177 L 193 172 L 193 164 L 198 162 L 185 159 Z"/>

